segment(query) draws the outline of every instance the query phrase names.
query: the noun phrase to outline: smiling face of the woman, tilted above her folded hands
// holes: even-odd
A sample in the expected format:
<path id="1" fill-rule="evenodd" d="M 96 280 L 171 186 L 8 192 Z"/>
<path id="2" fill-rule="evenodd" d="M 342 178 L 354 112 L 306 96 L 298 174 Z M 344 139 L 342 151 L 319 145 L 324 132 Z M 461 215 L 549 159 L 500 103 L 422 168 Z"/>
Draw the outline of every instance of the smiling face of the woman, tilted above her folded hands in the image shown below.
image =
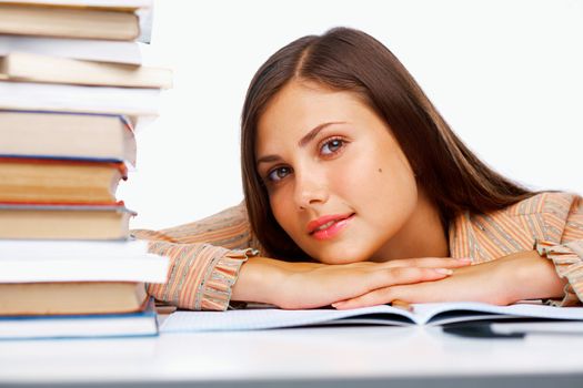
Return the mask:
<path id="1" fill-rule="evenodd" d="M 390 129 L 351 92 L 289 83 L 260 118 L 255 154 L 275 219 L 322 263 L 383 261 L 418 202 Z"/>

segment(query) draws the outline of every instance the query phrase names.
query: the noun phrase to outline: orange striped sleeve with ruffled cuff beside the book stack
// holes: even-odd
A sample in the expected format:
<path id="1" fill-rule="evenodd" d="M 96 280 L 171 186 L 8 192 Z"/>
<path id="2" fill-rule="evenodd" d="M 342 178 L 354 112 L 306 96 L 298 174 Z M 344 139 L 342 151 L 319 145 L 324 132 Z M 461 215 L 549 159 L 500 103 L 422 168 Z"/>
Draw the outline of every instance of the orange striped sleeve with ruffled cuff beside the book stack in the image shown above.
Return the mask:
<path id="1" fill-rule="evenodd" d="M 148 284 L 148 293 L 193 310 L 225 310 L 241 265 L 252 248 L 259 248 L 243 204 L 199 222 L 131 234 L 149 239 L 151 253 L 170 258 L 167 282 Z"/>

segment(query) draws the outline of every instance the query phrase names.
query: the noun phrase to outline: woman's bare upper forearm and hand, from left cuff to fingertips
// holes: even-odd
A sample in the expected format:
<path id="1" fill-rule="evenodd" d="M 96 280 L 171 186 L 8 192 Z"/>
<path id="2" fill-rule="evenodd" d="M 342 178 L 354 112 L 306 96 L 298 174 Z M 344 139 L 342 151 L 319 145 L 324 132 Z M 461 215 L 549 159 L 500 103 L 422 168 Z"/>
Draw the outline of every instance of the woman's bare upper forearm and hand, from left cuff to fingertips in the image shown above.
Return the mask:
<path id="1" fill-rule="evenodd" d="M 435 257 L 342 265 L 253 257 L 241 267 L 232 299 L 288 309 L 315 308 L 375 289 L 443 279 L 451 268 L 469 264 L 468 259 Z"/>

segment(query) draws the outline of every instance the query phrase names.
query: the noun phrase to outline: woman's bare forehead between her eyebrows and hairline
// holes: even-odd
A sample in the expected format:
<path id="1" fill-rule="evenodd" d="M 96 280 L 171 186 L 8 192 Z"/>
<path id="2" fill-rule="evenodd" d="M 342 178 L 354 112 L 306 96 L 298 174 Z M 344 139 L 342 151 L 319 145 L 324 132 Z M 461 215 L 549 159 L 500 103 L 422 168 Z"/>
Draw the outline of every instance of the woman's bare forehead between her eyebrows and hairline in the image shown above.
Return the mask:
<path id="1" fill-rule="evenodd" d="M 313 82 L 290 82 L 267 105 L 258 123 L 258 151 L 279 141 L 300 139 L 325 122 L 370 120 L 372 110 L 354 92 Z M 285 139 L 284 139 L 285 137 Z"/>

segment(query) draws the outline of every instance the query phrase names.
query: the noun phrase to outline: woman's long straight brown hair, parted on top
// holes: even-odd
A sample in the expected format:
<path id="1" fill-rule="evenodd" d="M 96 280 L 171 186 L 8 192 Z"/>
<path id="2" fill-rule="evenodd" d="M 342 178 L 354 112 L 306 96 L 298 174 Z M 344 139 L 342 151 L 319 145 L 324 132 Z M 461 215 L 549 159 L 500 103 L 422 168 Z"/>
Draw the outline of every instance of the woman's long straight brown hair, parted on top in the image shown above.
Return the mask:
<path id="1" fill-rule="evenodd" d="M 487 167 L 452 132 L 413 76 L 381 42 L 349 28 L 300 38 L 280 49 L 249 85 L 241 123 L 241 167 L 249 219 L 273 257 L 305 259 L 275 221 L 255 164 L 257 126 L 271 99 L 292 80 L 359 94 L 392 130 L 446 225 L 460 212 L 501 210 L 534 193 Z"/>

